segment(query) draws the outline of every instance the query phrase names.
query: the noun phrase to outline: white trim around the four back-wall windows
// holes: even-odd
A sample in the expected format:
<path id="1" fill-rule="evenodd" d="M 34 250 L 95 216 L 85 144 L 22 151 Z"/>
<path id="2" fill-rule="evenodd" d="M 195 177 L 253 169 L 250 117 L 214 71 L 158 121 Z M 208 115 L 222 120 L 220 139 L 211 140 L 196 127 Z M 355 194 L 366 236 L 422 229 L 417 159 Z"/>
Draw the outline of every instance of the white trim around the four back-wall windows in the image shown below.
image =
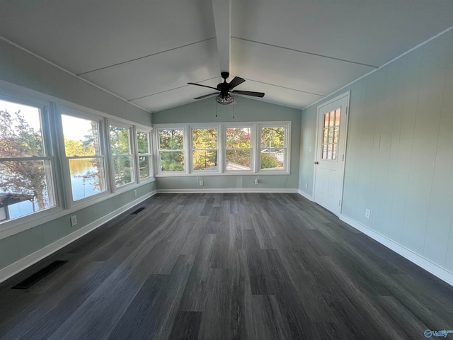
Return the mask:
<path id="1" fill-rule="evenodd" d="M 225 170 L 226 166 L 226 128 L 248 128 L 251 127 L 251 170 L 237 171 Z M 285 128 L 285 169 L 281 170 L 267 170 L 260 169 L 260 128 Z M 193 136 L 192 130 L 196 128 L 217 128 L 217 164 L 219 171 L 193 171 Z M 184 171 L 160 171 L 160 157 L 159 157 L 159 130 L 184 130 L 184 157 L 189 159 L 185 161 Z M 244 176 L 244 175 L 289 175 L 291 174 L 291 136 L 292 136 L 292 122 L 285 121 L 262 121 L 262 122 L 228 122 L 228 123 L 185 123 L 185 124 L 155 124 L 153 130 L 154 142 L 154 164 L 156 164 L 156 177 L 181 177 L 181 176 Z"/>

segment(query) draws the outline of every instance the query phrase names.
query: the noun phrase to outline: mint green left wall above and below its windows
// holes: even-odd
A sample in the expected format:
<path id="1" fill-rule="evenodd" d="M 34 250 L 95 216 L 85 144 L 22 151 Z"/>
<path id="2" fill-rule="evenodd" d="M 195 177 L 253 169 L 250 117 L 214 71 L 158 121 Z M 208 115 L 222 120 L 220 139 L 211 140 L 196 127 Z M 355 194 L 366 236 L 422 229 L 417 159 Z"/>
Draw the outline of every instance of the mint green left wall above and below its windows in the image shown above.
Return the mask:
<path id="1" fill-rule="evenodd" d="M 151 113 L 71 76 L 3 40 L 0 40 L 0 79 L 42 94 L 125 118 L 134 123 L 151 126 Z M 76 227 L 70 227 L 69 215 L 66 215 L 0 239 L 0 270 L 131 203 L 134 199 L 147 195 L 156 189 L 156 182 L 147 183 L 134 189 L 137 190 L 137 197 L 132 197 L 132 191 L 125 191 L 120 195 L 107 198 L 101 203 L 71 212 L 69 215 L 77 215 Z"/>

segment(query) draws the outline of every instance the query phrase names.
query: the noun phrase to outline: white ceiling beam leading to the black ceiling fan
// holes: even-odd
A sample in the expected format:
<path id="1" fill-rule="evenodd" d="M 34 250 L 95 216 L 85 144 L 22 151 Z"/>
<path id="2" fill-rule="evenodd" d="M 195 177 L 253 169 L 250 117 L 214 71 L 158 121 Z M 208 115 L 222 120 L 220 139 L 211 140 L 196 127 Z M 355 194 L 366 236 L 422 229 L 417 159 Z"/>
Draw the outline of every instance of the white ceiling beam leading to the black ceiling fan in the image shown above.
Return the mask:
<path id="1" fill-rule="evenodd" d="M 229 72 L 231 52 L 231 0 L 212 0 L 220 72 Z"/>

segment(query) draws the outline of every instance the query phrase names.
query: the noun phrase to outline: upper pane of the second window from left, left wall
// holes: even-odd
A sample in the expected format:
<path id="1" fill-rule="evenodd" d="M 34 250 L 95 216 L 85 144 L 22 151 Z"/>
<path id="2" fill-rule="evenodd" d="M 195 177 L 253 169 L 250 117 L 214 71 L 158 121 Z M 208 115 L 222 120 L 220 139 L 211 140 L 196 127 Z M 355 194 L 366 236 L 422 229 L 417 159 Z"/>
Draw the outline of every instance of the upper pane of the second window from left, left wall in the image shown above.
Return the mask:
<path id="1" fill-rule="evenodd" d="M 98 122 L 62 115 L 62 123 L 67 157 L 101 154 Z"/>

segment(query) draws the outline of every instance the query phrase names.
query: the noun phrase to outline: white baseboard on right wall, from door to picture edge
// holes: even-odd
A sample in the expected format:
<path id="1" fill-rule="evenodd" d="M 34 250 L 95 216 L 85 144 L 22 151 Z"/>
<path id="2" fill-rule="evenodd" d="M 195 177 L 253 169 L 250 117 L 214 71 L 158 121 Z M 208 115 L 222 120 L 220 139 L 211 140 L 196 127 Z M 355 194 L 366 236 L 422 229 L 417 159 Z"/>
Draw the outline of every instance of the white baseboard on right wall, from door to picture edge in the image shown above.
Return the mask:
<path id="1" fill-rule="evenodd" d="M 440 278 L 449 285 L 453 285 L 453 273 L 447 271 L 447 269 L 438 266 L 436 263 L 433 263 L 428 259 L 425 259 L 423 256 L 415 254 L 413 251 L 407 249 L 404 246 L 401 246 L 401 244 L 398 244 L 392 241 L 391 239 L 385 237 L 384 235 L 379 234 L 378 232 L 375 232 L 372 229 L 369 229 L 369 227 L 365 227 L 365 225 L 362 225 L 361 223 L 352 220 L 352 218 L 348 216 L 340 215 L 340 220 L 348 223 L 348 225 L 350 225 L 351 227 L 360 230 L 360 232 L 363 232 L 364 234 L 376 240 L 380 244 L 386 246 L 387 248 L 395 251 L 397 254 L 400 254 L 404 258 L 415 263 L 417 266 L 425 269 L 425 271 L 432 273 L 432 275 L 437 276 L 437 278 Z"/>

